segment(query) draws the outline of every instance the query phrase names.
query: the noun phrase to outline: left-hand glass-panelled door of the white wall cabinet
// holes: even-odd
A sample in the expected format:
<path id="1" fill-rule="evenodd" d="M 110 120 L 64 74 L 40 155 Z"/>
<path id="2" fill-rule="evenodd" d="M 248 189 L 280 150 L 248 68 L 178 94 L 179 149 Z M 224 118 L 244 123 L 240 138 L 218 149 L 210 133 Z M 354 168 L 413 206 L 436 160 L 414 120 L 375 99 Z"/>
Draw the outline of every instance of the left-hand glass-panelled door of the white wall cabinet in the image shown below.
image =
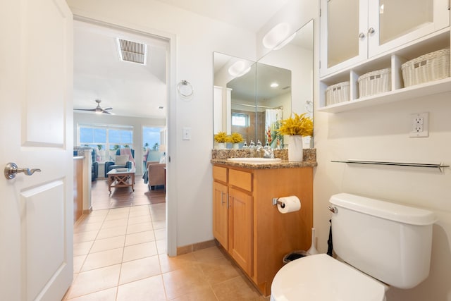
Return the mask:
<path id="1" fill-rule="evenodd" d="M 321 0 L 321 76 L 367 58 L 368 2 Z"/>

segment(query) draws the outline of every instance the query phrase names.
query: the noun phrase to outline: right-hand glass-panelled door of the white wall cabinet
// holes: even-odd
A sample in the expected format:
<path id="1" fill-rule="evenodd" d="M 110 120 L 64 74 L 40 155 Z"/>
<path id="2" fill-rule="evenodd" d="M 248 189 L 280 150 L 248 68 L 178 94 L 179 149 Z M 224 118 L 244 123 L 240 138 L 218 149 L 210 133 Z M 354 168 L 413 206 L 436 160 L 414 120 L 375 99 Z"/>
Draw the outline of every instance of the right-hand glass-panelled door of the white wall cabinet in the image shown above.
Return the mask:
<path id="1" fill-rule="evenodd" d="M 448 0 L 369 1 L 369 57 L 450 25 Z"/>

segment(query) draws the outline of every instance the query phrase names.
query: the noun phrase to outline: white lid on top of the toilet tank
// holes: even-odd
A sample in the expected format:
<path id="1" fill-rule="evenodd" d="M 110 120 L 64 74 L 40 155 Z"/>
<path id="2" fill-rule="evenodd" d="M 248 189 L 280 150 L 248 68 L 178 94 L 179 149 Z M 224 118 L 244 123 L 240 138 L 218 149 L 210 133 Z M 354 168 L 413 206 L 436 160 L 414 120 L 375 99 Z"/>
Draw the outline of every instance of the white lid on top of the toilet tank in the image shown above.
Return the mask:
<path id="1" fill-rule="evenodd" d="M 425 209 L 404 206 L 380 199 L 361 197 L 359 195 L 351 195 L 349 193 L 333 195 L 330 197 L 329 202 L 338 207 L 411 225 L 431 225 L 436 221 L 433 212 Z"/>

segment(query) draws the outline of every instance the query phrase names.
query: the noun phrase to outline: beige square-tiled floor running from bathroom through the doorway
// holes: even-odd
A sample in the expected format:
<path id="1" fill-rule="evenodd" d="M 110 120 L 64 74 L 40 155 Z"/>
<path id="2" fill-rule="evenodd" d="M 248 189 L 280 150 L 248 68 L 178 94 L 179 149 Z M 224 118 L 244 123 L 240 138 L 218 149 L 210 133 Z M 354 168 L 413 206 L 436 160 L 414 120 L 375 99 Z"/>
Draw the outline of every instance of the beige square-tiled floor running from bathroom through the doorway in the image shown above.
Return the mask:
<path id="1" fill-rule="evenodd" d="M 218 247 L 168 257 L 165 219 L 166 203 L 83 216 L 63 300 L 269 300 Z"/>

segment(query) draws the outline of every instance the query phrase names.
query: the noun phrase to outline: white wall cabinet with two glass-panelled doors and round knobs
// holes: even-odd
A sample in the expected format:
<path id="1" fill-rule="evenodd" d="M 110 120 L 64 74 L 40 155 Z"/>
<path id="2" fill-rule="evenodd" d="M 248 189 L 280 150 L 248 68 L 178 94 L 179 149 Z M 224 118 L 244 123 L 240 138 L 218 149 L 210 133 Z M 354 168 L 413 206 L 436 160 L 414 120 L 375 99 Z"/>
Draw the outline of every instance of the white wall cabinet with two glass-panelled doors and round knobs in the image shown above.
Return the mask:
<path id="1" fill-rule="evenodd" d="M 320 76 L 450 25 L 449 0 L 321 0 Z"/>

